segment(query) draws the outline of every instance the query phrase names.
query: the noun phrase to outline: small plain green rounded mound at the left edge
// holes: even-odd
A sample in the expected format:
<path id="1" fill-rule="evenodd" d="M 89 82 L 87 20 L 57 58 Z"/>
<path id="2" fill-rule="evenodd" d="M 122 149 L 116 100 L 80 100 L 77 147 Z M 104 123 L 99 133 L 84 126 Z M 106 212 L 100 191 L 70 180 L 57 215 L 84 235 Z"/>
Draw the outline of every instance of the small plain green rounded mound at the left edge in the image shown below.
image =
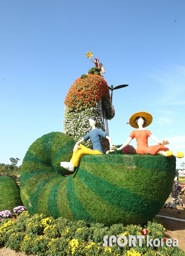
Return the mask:
<path id="1" fill-rule="evenodd" d="M 0 211 L 12 212 L 19 205 L 23 205 L 19 186 L 12 178 L 0 176 Z"/>

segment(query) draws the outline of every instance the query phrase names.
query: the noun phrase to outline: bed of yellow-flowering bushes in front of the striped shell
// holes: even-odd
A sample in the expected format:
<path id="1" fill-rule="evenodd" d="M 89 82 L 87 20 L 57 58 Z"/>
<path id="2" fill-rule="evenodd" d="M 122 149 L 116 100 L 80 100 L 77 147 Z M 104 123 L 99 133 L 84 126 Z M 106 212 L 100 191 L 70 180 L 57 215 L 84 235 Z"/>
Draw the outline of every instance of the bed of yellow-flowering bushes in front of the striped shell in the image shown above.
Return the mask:
<path id="1" fill-rule="evenodd" d="M 157 218 L 144 226 L 149 239 L 164 238 L 164 227 Z M 115 224 L 106 227 L 101 223 L 70 221 L 64 218 L 53 219 L 44 215 L 31 216 L 24 211 L 14 222 L 6 219 L 0 222 L 0 245 L 12 250 L 32 252 L 38 256 L 185 256 L 179 247 L 146 247 L 146 237 L 142 247 L 130 248 L 128 244 L 119 247 L 102 246 L 104 235 L 142 235 L 140 225 Z"/>

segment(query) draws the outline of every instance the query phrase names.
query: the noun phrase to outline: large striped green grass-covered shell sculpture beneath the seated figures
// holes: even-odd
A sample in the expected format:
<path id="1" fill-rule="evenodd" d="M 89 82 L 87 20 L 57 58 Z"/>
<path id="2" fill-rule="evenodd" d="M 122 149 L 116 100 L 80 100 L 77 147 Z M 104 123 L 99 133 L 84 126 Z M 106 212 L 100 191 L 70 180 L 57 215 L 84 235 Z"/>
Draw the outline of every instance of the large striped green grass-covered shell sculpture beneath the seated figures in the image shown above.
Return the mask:
<path id="1" fill-rule="evenodd" d="M 160 211 L 175 176 L 175 157 L 85 155 L 74 174 L 74 140 L 61 132 L 37 139 L 23 160 L 21 198 L 31 215 L 84 219 L 105 225 L 144 224 Z"/>

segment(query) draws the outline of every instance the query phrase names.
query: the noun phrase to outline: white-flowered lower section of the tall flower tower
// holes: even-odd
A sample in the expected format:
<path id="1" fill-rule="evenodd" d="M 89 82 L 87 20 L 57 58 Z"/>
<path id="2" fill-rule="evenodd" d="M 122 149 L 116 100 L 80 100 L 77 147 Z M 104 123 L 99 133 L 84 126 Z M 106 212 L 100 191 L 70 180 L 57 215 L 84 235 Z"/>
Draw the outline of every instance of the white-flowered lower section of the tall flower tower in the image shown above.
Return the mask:
<path id="1" fill-rule="evenodd" d="M 101 102 L 96 103 L 96 107 L 90 107 L 81 111 L 74 110 L 70 112 L 68 107 L 65 107 L 64 115 L 63 132 L 71 136 L 76 142 L 83 138 L 92 129 L 88 121 L 91 116 L 95 116 L 97 118 L 96 127 L 105 131 L 102 120 Z M 93 149 L 93 145 L 90 140 L 82 143 L 87 148 Z"/>

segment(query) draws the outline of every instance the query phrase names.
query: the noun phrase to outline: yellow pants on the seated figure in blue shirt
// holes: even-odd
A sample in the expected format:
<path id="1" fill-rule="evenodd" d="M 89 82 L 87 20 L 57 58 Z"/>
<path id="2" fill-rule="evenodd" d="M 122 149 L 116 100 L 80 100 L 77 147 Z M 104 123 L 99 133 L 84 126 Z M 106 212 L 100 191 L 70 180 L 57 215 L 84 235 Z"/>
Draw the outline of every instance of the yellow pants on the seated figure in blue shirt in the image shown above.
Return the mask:
<path id="1" fill-rule="evenodd" d="M 90 150 L 82 144 L 80 144 L 80 147 L 81 149 L 77 148 L 72 155 L 72 159 L 70 160 L 72 164 L 76 167 L 78 167 L 82 155 L 103 155 L 103 153 L 101 153 L 99 150 Z"/>

